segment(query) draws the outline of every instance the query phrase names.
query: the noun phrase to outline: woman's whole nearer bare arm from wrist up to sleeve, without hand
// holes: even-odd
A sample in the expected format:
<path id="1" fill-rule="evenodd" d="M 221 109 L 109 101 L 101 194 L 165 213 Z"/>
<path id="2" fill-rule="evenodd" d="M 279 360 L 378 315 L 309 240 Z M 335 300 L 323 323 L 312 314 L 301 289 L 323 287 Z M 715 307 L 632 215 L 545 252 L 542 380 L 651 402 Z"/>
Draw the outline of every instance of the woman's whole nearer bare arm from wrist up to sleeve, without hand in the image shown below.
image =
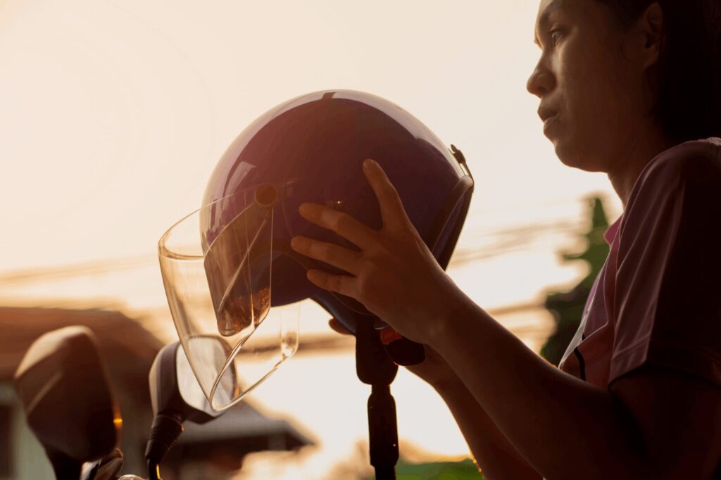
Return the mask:
<path id="1" fill-rule="evenodd" d="M 721 451 L 717 386 L 686 377 L 680 390 L 684 375 L 638 370 L 612 394 L 549 365 L 467 298 L 455 316 L 432 346 L 545 477 L 711 477 Z"/>

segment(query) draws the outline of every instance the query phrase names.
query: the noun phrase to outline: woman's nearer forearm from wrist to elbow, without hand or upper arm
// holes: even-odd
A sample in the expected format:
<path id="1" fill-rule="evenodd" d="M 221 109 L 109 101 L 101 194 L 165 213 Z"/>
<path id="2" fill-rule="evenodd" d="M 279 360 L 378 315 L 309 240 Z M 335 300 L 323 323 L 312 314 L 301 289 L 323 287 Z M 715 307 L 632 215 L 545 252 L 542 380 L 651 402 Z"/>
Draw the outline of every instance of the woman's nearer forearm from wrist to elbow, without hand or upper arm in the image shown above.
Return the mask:
<path id="1" fill-rule="evenodd" d="M 640 446 L 608 391 L 554 368 L 464 302 L 431 346 L 536 471 L 552 479 L 642 478 Z"/>

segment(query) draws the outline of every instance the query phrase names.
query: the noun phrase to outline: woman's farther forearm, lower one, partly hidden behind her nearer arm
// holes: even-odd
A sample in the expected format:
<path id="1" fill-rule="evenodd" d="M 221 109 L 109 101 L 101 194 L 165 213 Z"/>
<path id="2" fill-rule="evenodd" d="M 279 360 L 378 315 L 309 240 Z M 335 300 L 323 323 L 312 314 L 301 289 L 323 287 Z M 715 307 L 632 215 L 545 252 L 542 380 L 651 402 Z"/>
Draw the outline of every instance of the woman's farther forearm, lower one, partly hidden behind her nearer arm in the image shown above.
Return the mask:
<path id="1" fill-rule="evenodd" d="M 541 475 L 506 440 L 461 381 L 436 388 L 436 391 L 456 419 L 485 479 L 541 479 Z"/>

